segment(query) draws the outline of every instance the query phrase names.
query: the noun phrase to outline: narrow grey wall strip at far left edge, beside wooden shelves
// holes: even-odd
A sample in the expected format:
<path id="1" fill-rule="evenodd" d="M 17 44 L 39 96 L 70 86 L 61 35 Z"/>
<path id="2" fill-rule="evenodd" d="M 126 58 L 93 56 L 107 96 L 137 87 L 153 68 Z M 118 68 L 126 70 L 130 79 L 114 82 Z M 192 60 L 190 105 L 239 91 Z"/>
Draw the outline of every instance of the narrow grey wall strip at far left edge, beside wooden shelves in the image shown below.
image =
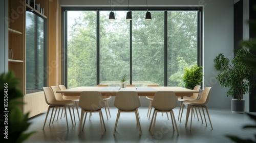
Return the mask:
<path id="1" fill-rule="evenodd" d="M 8 71 L 8 0 L 0 2 L 0 74 Z"/>

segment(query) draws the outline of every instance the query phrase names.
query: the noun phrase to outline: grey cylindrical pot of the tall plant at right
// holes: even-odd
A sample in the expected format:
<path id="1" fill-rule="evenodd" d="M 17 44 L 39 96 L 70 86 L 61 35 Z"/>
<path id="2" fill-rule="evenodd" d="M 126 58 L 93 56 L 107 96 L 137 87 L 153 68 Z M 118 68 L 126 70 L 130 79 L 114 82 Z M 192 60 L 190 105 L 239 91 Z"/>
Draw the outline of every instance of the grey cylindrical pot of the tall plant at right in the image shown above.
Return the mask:
<path id="1" fill-rule="evenodd" d="M 238 100 L 238 99 L 232 99 L 231 100 L 231 112 L 232 113 L 244 113 L 244 107 L 245 107 L 245 101 L 244 99 Z"/>

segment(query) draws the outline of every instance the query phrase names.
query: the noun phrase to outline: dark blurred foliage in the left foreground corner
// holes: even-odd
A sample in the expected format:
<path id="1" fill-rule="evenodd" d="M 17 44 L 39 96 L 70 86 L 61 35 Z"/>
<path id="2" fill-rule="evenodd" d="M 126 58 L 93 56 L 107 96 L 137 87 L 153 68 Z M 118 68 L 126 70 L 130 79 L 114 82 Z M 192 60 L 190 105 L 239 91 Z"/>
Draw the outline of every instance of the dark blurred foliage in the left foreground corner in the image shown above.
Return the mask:
<path id="1" fill-rule="evenodd" d="M 0 84 L 0 91 L 3 93 L 1 103 L 5 106 L 1 110 L 5 116 L 0 118 L 2 134 L 4 134 L 3 141 L 23 142 L 35 132 L 26 132 L 31 123 L 28 122 L 29 113 L 23 114 L 18 106 L 24 104 L 20 101 L 20 98 L 23 98 L 23 93 L 17 88 L 18 79 L 12 71 L 9 71 L 7 74 L 0 75 Z M 8 105 L 6 106 L 6 104 Z M 6 120 L 7 117 L 8 120 Z"/>

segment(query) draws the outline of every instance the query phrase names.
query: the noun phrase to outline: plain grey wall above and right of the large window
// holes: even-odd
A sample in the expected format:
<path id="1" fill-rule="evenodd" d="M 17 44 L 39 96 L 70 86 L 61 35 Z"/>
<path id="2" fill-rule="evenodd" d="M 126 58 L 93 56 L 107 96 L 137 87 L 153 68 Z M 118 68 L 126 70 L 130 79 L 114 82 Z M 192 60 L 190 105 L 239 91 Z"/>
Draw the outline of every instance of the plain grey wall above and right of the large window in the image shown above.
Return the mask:
<path id="1" fill-rule="evenodd" d="M 117 6 L 127 7 L 127 0 L 113 0 Z M 145 6 L 145 1 L 131 0 L 131 6 Z M 202 6 L 203 7 L 203 87 L 211 86 L 209 108 L 230 108 L 231 97 L 226 96 L 228 88 L 219 85 L 214 68 L 214 58 L 219 54 L 232 58 L 233 50 L 233 0 L 148 0 L 148 6 Z M 109 0 L 84 1 L 60 0 L 61 6 L 109 6 Z M 114 5 L 114 6 L 115 6 Z M 148 100 L 141 97 L 142 107 Z M 113 100 L 111 101 L 111 105 Z M 179 104 L 178 104 L 179 105 Z"/>

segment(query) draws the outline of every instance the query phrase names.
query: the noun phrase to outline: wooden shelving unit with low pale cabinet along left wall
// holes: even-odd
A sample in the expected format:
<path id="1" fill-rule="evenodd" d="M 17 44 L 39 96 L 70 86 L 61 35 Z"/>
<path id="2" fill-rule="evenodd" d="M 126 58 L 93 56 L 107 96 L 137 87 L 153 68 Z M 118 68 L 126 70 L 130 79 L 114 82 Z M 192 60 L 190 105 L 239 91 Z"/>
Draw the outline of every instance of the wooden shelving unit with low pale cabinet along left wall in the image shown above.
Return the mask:
<path id="1" fill-rule="evenodd" d="M 24 99 L 22 100 L 26 103 L 21 109 L 24 113 L 30 112 L 29 117 L 44 112 L 48 108 L 43 91 L 31 94 L 26 93 L 26 10 L 29 9 L 44 18 L 48 16 L 49 1 L 36 0 L 36 3 L 39 3 L 44 8 L 44 14 L 26 4 L 26 0 L 9 0 L 8 20 L 6 20 L 8 22 L 8 49 L 10 51 L 8 68 L 19 79 L 18 88 L 23 92 Z"/>

